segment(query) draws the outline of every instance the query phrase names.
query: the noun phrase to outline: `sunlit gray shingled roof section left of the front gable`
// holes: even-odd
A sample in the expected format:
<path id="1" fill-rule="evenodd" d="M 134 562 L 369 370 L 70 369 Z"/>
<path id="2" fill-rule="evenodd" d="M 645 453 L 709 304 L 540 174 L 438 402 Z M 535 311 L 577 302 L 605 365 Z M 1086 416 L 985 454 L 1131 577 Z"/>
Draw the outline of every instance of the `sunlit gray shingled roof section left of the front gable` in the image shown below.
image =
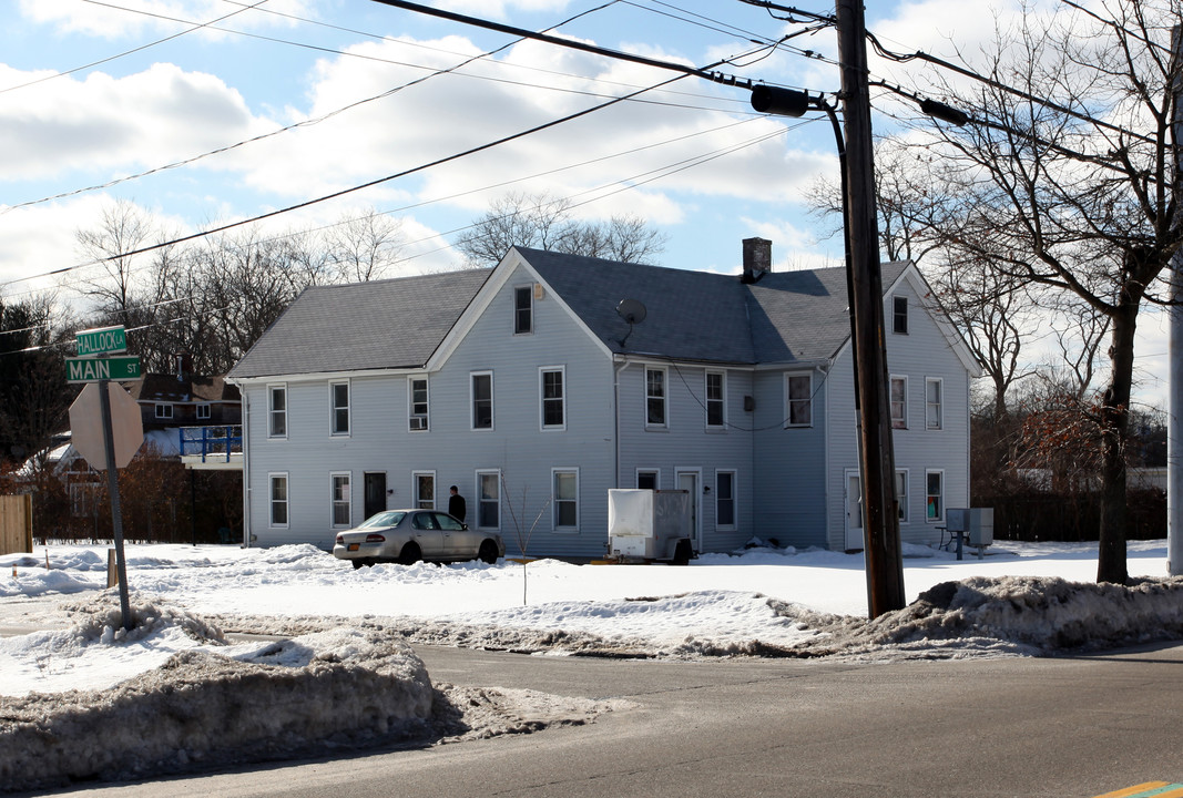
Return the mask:
<path id="1" fill-rule="evenodd" d="M 227 375 L 420 366 L 492 270 L 305 288 Z"/>

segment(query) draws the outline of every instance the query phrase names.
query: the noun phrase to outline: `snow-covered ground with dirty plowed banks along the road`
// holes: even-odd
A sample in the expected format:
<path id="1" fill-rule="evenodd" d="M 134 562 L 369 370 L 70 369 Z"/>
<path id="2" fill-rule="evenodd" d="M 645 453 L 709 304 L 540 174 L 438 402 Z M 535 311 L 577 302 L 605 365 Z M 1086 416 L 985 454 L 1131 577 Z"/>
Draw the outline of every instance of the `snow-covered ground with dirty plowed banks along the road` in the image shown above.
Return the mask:
<path id="1" fill-rule="evenodd" d="M 689 567 L 547 559 L 362 570 L 311 546 L 129 546 L 127 556 L 130 632 L 118 592 L 105 589 L 106 547 L 0 557 L 0 790 L 247 751 L 479 737 L 620 708 L 432 685 L 405 641 L 873 660 L 1183 638 L 1183 578 L 1166 577 L 1165 541 L 1130 544 L 1126 588 L 1093 584 L 1095 544 L 998 543 L 959 562 L 906 545 L 910 605 L 874 621 L 862 557 L 826 551 L 757 546 Z M 235 631 L 277 638 L 227 640 Z M 357 698 L 374 694 L 384 700 Z M 97 731 L 115 726 L 127 729 L 117 740 Z"/>

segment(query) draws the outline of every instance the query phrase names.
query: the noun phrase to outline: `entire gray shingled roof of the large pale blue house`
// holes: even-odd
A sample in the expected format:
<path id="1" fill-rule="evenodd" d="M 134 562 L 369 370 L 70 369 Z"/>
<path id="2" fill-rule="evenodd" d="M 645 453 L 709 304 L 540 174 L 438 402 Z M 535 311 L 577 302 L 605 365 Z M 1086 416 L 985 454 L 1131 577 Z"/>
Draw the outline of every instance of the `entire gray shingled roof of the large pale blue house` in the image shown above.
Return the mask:
<path id="1" fill-rule="evenodd" d="M 612 352 L 715 363 L 793 363 L 833 357 L 851 336 L 846 271 L 735 274 L 517 247 L 525 262 Z M 885 264 L 891 285 L 907 264 Z M 256 378 L 428 362 L 492 270 L 308 288 L 228 377 Z M 632 325 L 622 299 L 646 307 Z"/>

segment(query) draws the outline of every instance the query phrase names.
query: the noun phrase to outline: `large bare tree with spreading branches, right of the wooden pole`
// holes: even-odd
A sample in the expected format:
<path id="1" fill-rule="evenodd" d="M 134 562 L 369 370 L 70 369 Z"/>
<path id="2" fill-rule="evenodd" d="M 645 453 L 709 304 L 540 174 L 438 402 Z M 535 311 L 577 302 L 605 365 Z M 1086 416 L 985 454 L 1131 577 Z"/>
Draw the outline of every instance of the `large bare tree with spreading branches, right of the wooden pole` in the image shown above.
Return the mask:
<path id="1" fill-rule="evenodd" d="M 1181 4 L 1110 0 L 1104 13 L 1024 8 L 1013 28 L 1000 25 L 982 58 L 963 56 L 989 83 L 965 87 L 932 73 L 930 96 L 972 122 L 918 130 L 938 156 L 927 162 L 935 182 L 957 189 L 942 241 L 1067 292 L 1108 320 L 1110 371 L 1097 410 L 1098 580 L 1121 583 L 1134 330 L 1143 304 L 1163 301 L 1163 272 L 1183 238 L 1171 137 Z"/>

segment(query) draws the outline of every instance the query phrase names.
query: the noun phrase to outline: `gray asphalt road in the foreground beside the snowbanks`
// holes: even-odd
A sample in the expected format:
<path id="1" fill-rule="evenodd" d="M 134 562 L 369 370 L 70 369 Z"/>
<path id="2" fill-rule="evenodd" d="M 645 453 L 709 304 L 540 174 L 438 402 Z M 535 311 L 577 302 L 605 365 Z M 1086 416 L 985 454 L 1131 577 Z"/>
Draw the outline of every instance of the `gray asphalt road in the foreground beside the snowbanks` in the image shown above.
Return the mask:
<path id="1" fill-rule="evenodd" d="M 635 707 L 582 727 L 71 794 L 1088 798 L 1183 780 L 1183 645 L 887 664 L 419 650 L 435 681 Z"/>

